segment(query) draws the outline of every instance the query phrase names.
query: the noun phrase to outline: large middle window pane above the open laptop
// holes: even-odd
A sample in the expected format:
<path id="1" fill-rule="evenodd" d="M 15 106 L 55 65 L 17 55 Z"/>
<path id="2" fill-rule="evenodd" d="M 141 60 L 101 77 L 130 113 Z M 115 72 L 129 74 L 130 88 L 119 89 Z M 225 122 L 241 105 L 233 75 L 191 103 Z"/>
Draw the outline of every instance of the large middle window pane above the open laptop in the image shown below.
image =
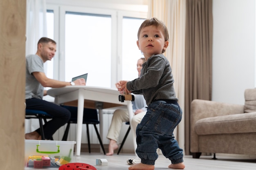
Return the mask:
<path id="1" fill-rule="evenodd" d="M 88 73 L 87 86 L 111 87 L 111 17 L 65 14 L 65 81 Z"/>

